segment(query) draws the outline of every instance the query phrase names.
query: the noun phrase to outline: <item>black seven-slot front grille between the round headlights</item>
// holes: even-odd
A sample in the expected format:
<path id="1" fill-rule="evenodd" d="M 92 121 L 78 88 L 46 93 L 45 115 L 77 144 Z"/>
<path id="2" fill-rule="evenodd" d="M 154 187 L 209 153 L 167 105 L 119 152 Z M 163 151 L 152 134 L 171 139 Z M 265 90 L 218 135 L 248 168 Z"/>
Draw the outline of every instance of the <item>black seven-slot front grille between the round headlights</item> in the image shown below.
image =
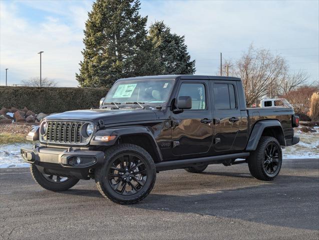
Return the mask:
<path id="1" fill-rule="evenodd" d="M 81 143 L 84 137 L 81 135 L 83 122 L 48 121 L 45 140 L 56 143 Z"/>

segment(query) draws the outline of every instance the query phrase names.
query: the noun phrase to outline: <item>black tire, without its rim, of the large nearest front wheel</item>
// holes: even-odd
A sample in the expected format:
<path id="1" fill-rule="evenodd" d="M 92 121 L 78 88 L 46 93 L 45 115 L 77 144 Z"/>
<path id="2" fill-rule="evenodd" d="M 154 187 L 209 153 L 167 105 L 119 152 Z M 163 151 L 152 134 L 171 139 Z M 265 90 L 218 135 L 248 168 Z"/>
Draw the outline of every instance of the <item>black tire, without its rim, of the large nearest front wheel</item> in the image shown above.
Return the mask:
<path id="1" fill-rule="evenodd" d="M 108 182 L 107 174 L 112 161 L 123 154 L 132 153 L 144 160 L 147 169 L 147 180 L 144 186 L 132 195 L 121 195 L 114 190 Z M 106 180 L 104 180 L 106 179 Z M 104 180 L 104 181 L 103 181 Z M 119 204 L 134 204 L 145 198 L 153 189 L 156 180 L 156 167 L 152 156 L 142 147 L 130 143 L 112 146 L 105 151 L 105 160 L 101 168 L 96 169 L 95 181 L 100 193 Z"/>

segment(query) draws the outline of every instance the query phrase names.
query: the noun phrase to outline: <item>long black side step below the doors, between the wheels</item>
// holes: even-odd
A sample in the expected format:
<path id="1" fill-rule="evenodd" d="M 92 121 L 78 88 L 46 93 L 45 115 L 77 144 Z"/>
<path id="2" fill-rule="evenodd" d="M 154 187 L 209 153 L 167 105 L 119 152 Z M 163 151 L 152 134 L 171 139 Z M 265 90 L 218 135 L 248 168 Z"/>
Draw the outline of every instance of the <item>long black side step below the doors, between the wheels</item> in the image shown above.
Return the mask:
<path id="1" fill-rule="evenodd" d="M 163 161 L 163 162 L 155 163 L 155 166 L 157 171 L 165 171 L 165 170 L 185 168 L 185 167 L 190 167 L 195 165 L 223 163 L 225 159 L 236 159 L 236 158 L 243 158 L 247 156 L 249 156 L 249 152 L 240 152 L 240 153 L 233 153 L 233 154 L 226 154 L 226 155 L 219 155 L 219 156 L 206 156 L 206 157 L 189 158 L 189 159 L 182 159 L 182 160 Z"/>

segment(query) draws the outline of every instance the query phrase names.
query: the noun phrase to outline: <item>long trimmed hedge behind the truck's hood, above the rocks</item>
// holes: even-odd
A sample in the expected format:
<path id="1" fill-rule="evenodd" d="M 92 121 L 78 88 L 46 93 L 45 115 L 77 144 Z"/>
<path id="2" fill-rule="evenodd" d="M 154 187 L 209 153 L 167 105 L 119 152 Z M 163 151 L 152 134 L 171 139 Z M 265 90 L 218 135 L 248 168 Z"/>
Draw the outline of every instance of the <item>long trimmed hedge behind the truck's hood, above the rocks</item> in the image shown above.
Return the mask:
<path id="1" fill-rule="evenodd" d="M 0 108 L 25 106 L 36 113 L 98 107 L 107 88 L 0 86 Z"/>

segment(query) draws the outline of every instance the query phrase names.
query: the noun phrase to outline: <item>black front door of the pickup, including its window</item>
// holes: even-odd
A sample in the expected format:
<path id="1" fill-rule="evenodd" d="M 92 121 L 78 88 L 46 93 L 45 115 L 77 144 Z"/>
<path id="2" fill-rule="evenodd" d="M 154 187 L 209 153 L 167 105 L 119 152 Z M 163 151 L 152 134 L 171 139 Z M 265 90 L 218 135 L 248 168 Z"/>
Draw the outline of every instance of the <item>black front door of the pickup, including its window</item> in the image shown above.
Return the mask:
<path id="1" fill-rule="evenodd" d="M 190 96 L 192 108 L 172 112 L 172 153 L 202 155 L 210 149 L 213 139 L 208 80 L 181 80 L 175 97 L 179 96 Z"/>

